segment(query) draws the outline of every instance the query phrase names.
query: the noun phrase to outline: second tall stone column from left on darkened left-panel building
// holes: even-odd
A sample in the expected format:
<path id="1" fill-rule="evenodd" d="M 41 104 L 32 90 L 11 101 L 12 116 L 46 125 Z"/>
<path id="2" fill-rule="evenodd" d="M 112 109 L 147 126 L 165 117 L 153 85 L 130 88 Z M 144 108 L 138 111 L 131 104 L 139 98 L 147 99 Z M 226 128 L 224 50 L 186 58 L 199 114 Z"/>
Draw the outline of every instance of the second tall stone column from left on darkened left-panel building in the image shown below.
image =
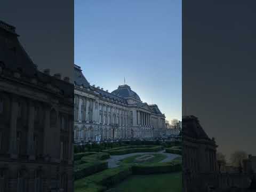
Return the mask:
<path id="1" fill-rule="evenodd" d="M 28 142 L 27 142 L 27 153 L 30 160 L 35 159 L 35 143 L 34 143 L 34 125 L 35 125 L 35 103 L 29 101 L 29 116 L 28 116 Z"/>

